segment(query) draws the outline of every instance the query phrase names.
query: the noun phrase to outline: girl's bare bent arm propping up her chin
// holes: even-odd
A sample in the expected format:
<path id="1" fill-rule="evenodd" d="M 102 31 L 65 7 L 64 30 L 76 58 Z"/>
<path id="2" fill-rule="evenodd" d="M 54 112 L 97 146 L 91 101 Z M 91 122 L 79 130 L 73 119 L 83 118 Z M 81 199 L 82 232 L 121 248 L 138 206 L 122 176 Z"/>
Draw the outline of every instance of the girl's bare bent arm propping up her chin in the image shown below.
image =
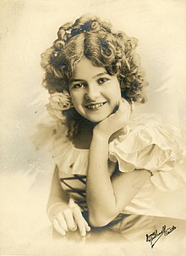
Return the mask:
<path id="1" fill-rule="evenodd" d="M 107 225 L 134 198 L 150 177 L 146 170 L 118 173 L 112 180 L 108 172 L 108 141 L 127 120 L 128 105 L 96 125 L 90 143 L 86 197 L 91 225 Z"/>

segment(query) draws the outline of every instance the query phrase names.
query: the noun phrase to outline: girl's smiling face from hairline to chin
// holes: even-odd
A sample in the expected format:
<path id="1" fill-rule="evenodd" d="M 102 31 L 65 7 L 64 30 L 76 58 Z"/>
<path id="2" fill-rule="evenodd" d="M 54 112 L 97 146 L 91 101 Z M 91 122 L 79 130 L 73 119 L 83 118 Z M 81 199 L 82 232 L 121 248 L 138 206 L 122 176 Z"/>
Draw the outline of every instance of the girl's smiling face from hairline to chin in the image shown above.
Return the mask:
<path id="1" fill-rule="evenodd" d="M 106 119 L 121 99 L 117 76 L 108 75 L 104 68 L 94 66 L 87 58 L 76 64 L 69 92 L 77 112 L 92 122 Z"/>

